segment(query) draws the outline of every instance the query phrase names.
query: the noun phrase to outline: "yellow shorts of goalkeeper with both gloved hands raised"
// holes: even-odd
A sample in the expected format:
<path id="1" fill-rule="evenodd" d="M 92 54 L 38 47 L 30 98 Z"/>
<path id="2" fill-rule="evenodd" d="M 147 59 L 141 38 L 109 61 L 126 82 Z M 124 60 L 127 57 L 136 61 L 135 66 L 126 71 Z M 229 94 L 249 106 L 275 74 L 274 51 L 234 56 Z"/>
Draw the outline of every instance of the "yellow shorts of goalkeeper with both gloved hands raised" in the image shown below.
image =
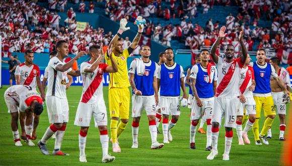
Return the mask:
<path id="1" fill-rule="evenodd" d="M 130 92 L 129 88 L 109 89 L 109 110 L 111 117 L 129 119 Z"/>

